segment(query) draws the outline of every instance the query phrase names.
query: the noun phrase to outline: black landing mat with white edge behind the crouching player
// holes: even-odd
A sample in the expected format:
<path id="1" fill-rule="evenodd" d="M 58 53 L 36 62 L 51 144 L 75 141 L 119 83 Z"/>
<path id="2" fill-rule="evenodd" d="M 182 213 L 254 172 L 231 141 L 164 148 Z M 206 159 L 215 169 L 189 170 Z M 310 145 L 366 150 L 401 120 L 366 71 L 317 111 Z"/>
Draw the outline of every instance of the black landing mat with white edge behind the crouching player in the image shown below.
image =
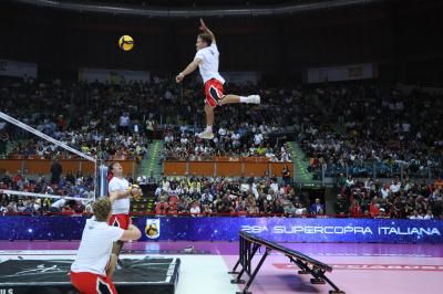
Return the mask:
<path id="1" fill-rule="evenodd" d="M 173 294 L 178 282 L 179 259 L 123 259 L 114 273 L 119 293 Z M 72 260 L 8 260 L 0 263 L 0 293 L 78 293 L 68 275 Z"/>

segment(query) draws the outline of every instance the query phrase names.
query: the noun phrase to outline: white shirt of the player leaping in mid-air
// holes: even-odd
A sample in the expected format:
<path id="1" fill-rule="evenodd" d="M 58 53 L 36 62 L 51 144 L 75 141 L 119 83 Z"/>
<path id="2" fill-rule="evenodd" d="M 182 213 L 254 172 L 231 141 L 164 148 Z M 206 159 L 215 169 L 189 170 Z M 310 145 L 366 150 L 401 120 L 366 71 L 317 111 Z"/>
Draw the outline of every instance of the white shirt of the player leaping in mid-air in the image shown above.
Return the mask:
<path id="1" fill-rule="evenodd" d="M 222 84 L 225 83 L 225 78 L 218 73 L 218 52 L 217 45 L 213 42 L 210 46 L 203 48 L 197 51 L 195 59 L 199 59 L 202 62 L 198 65 L 203 83 L 206 83 L 210 78 L 216 78 L 220 81 Z"/>

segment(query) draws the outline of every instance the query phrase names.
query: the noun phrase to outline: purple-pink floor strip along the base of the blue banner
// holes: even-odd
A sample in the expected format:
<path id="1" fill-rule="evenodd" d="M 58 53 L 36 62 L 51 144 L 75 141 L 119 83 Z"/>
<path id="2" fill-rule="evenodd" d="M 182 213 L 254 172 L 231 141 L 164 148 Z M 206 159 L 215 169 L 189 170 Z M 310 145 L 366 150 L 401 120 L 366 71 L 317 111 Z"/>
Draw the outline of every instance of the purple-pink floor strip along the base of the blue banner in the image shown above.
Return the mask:
<path id="1" fill-rule="evenodd" d="M 437 244 L 378 244 L 378 243 L 284 243 L 286 246 L 311 255 L 324 256 L 422 256 L 443 258 L 443 246 Z M 132 242 L 124 249 L 138 252 L 161 252 L 176 254 L 184 248 L 194 245 L 197 253 L 237 255 L 237 242 Z M 76 250 L 78 241 L 0 242 L 0 250 Z"/>

